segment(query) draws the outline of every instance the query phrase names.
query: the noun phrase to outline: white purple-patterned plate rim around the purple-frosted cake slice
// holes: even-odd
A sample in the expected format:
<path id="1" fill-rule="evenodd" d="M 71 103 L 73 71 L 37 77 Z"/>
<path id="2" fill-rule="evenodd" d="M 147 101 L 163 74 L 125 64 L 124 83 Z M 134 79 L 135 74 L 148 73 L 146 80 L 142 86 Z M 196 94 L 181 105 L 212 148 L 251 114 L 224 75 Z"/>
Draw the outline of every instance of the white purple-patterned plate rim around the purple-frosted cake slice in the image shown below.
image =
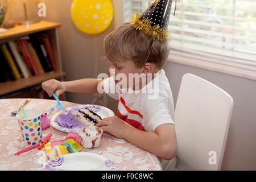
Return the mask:
<path id="1" fill-rule="evenodd" d="M 98 115 L 100 115 L 100 117 L 102 119 L 107 118 L 107 117 L 111 117 L 111 116 L 114 115 L 114 112 L 112 110 L 108 109 L 107 107 L 99 106 L 99 105 L 90 105 L 90 104 L 76 105 L 76 106 L 68 107 L 68 108 L 66 108 L 66 110 L 71 111 L 71 110 L 75 110 L 75 109 L 82 109 L 82 108 L 85 108 L 85 107 L 88 107 L 94 113 L 97 113 Z M 58 125 L 55 122 L 55 119 L 57 118 L 57 116 L 62 114 L 62 113 L 63 113 L 63 111 L 60 110 L 60 111 L 57 111 L 57 113 L 55 113 L 54 115 L 52 115 L 52 117 L 51 117 L 51 126 L 54 127 L 56 130 L 63 131 L 65 133 L 71 133 L 71 132 L 77 133 L 77 131 L 80 128 L 74 127 L 72 129 L 67 129 L 67 128 L 64 128 L 64 127 Z"/>

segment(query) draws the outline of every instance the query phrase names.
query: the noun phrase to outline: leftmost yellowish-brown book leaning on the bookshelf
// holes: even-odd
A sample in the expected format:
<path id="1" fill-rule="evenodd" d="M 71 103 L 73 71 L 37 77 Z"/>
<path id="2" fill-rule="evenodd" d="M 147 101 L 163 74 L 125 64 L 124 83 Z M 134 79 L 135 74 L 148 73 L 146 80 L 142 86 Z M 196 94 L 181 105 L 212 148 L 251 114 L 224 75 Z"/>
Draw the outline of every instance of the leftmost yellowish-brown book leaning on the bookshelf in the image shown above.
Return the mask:
<path id="1" fill-rule="evenodd" d="M 19 75 L 19 71 L 16 68 L 13 57 L 11 57 L 11 54 L 10 54 L 9 50 L 7 49 L 7 46 L 5 44 L 3 44 L 1 46 L 1 50 L 2 50 L 2 53 L 5 57 L 5 60 L 7 61 L 8 65 L 11 69 L 11 72 L 13 73 L 13 76 L 15 77 L 15 80 L 20 79 L 21 77 Z"/>

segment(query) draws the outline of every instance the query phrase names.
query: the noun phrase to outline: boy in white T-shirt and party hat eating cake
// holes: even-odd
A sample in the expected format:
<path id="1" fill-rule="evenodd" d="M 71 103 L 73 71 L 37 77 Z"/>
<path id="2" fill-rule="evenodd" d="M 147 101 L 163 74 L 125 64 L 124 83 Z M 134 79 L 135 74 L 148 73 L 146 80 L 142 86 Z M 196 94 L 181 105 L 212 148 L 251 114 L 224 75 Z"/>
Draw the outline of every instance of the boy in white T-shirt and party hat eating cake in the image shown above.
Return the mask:
<path id="1" fill-rule="evenodd" d="M 170 11 L 171 1 L 154 1 L 144 14 L 135 15 L 130 23 L 106 36 L 105 55 L 110 60 L 109 72 L 114 71 L 113 77 L 67 82 L 49 80 L 43 82 L 43 89 L 51 97 L 52 92 L 59 96 L 64 92 L 96 93 L 102 88 L 110 97 L 119 100 L 118 117 L 102 119 L 96 126 L 159 158 L 175 158 L 174 103 L 170 84 L 162 69 L 170 51 L 167 41 Z M 155 20 L 149 22 L 153 18 Z M 154 26 L 153 23 L 158 24 Z M 121 73 L 122 77 L 119 77 Z M 141 77 L 134 83 L 136 78 L 131 80 L 131 74 Z M 130 82 L 132 84 L 128 84 Z M 113 89 L 117 92 L 110 93 L 109 90 Z M 151 93 L 155 97 L 150 98 Z"/>

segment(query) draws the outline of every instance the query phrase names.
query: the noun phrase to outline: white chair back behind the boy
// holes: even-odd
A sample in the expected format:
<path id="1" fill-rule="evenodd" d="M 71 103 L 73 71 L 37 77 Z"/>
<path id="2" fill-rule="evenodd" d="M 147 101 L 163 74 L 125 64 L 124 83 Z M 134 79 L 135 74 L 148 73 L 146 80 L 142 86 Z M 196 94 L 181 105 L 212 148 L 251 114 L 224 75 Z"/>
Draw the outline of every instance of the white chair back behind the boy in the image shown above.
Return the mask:
<path id="1" fill-rule="evenodd" d="M 233 98 L 224 90 L 183 76 L 175 109 L 178 170 L 220 170 L 232 110 Z"/>

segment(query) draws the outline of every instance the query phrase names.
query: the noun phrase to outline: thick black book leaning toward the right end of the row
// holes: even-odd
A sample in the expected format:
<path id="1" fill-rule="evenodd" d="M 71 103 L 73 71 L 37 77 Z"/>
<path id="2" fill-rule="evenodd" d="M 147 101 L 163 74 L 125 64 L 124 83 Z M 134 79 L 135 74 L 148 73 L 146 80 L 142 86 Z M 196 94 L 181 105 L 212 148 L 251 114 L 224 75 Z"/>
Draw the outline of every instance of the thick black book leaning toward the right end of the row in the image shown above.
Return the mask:
<path id="1" fill-rule="evenodd" d="M 39 36 L 37 34 L 31 34 L 30 42 L 39 57 L 39 60 L 40 60 L 40 63 L 42 64 L 44 72 L 51 72 L 53 69 L 46 52 L 46 48 L 44 48 L 44 45 L 41 43 Z"/>

